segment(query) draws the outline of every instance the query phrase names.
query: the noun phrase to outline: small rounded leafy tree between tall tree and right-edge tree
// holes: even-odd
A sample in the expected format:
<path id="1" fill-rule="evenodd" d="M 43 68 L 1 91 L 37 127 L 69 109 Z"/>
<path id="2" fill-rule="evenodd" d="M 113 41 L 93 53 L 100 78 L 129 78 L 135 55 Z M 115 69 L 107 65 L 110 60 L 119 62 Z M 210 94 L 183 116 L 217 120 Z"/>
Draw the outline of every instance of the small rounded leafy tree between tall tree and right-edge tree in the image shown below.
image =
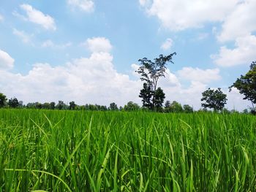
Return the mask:
<path id="1" fill-rule="evenodd" d="M 227 95 L 221 91 L 221 88 L 214 89 L 208 88 L 208 90 L 202 93 L 203 98 L 201 101 L 206 101 L 202 103 L 202 107 L 208 107 L 214 109 L 214 112 L 222 110 L 227 103 Z"/>

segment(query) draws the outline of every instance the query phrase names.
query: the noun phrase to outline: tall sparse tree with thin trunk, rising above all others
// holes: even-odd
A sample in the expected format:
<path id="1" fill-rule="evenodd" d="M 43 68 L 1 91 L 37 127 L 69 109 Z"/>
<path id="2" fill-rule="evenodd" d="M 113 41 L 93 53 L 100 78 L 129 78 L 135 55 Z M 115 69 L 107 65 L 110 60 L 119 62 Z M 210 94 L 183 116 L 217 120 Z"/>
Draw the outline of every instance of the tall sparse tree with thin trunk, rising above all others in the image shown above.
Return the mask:
<path id="1" fill-rule="evenodd" d="M 151 88 L 151 93 L 153 97 L 151 99 L 151 108 L 153 110 L 155 108 L 155 102 L 156 102 L 155 100 L 156 100 L 157 82 L 160 77 L 165 77 L 166 64 L 167 62 L 173 63 L 172 61 L 173 55 L 176 55 L 176 53 L 171 53 L 170 55 L 167 55 L 167 56 L 159 55 L 159 58 L 154 58 L 154 61 L 151 61 L 148 58 L 139 59 L 141 66 L 139 67 L 137 72 L 138 74 L 141 75 L 140 80 L 145 81 L 147 86 Z M 143 89 L 144 89 L 144 85 L 143 85 Z M 147 99 L 147 97 L 145 97 L 145 99 Z"/>

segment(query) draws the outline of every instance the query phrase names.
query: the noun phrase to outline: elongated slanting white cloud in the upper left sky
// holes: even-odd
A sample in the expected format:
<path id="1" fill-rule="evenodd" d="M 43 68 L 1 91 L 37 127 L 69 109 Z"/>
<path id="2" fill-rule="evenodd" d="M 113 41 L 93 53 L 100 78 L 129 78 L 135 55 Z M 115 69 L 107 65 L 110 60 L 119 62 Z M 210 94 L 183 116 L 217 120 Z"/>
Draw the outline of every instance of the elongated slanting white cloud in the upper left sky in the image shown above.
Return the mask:
<path id="1" fill-rule="evenodd" d="M 47 30 L 56 30 L 55 21 L 52 17 L 50 17 L 50 15 L 45 15 L 43 12 L 34 9 L 29 4 L 21 4 L 20 8 L 26 12 L 26 17 L 23 15 L 19 15 L 17 12 L 14 12 L 13 14 L 18 15 L 18 17 L 29 20 L 31 23 L 36 23 Z"/>

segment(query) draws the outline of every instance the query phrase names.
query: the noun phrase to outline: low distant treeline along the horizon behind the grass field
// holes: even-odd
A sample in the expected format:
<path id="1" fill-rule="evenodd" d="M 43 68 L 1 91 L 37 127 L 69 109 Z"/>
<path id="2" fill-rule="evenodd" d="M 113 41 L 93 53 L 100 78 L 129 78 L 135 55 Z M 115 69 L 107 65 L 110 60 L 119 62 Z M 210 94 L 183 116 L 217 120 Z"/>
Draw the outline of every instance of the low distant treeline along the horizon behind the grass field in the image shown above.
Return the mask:
<path id="1" fill-rule="evenodd" d="M 23 101 L 19 101 L 17 98 L 7 99 L 7 97 L 0 93 L 0 108 L 11 108 L 11 109 L 35 109 L 35 110 L 88 110 L 88 111 L 151 111 L 148 107 L 140 107 L 133 101 L 127 102 L 124 107 L 118 105 L 115 102 L 112 102 L 107 107 L 106 105 L 99 104 L 85 104 L 78 105 L 75 104 L 75 101 L 70 101 L 69 103 L 64 103 L 64 101 L 58 101 L 58 103 L 52 102 L 29 102 L 28 104 L 23 104 Z M 193 107 L 189 104 L 184 104 L 183 106 L 177 101 L 166 101 L 164 107 L 158 107 L 157 112 L 211 112 L 207 108 L 202 108 L 195 111 Z M 238 113 L 236 110 L 227 110 L 223 109 L 221 112 L 225 113 Z M 242 113 L 249 114 L 249 110 L 244 110 Z"/>

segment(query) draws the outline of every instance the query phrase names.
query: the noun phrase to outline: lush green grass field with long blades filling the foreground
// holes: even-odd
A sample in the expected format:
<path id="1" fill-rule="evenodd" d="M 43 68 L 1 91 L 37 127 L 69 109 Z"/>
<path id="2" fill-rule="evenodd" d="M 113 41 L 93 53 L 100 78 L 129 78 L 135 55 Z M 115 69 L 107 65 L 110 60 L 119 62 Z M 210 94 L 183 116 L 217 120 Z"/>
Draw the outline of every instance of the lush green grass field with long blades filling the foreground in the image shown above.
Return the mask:
<path id="1" fill-rule="evenodd" d="M 0 110 L 0 191 L 256 191 L 256 118 Z"/>

